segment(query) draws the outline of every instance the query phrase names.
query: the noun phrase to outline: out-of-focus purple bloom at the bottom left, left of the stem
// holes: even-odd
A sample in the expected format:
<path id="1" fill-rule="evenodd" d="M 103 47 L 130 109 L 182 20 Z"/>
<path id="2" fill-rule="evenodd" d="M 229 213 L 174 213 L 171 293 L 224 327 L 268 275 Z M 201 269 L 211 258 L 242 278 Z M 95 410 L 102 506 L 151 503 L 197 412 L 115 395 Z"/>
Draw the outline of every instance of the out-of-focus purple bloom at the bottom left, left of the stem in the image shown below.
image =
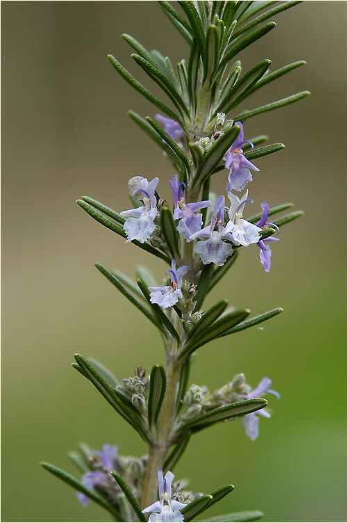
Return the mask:
<path id="1" fill-rule="evenodd" d="M 106 444 L 103 445 L 101 451 L 93 451 L 93 454 L 100 458 L 99 470 L 86 472 L 81 480 L 81 483 L 90 490 L 93 490 L 94 487 L 102 487 L 108 484 L 108 473 L 115 468 L 114 462 L 117 456 L 117 446 Z M 83 506 L 87 506 L 90 501 L 83 492 L 77 492 L 76 497 Z"/>

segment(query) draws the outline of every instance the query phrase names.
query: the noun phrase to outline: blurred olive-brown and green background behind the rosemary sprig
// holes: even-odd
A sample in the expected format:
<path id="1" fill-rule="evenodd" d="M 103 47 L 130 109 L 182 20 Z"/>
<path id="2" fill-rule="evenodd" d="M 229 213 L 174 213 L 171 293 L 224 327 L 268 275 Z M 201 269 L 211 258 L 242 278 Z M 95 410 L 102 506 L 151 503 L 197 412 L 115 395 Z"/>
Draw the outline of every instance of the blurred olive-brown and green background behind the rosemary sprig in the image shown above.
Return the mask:
<path id="1" fill-rule="evenodd" d="M 127 180 L 160 176 L 170 198 L 172 168 L 126 115 L 154 108 L 106 58 L 129 58 L 121 33 L 174 60 L 188 56 L 154 1 L 3 1 L 2 44 L 2 520 L 106 521 L 83 509 L 66 485 L 38 465 L 73 472 L 67 451 L 85 440 L 117 443 L 142 455 L 144 444 L 87 381 L 69 367 L 75 352 L 94 355 L 119 378 L 136 364 L 163 362 L 156 330 L 101 277 L 93 264 L 133 275 L 138 263 L 158 277 L 164 266 L 93 222 L 75 203 L 91 195 L 129 207 Z M 298 104 L 245 125 L 246 138 L 268 134 L 286 149 L 260 159 L 251 191 L 270 204 L 295 202 L 301 220 L 273 248 L 270 274 L 256 248 L 242 252 L 208 303 L 228 298 L 255 314 L 284 312 L 258 328 L 201 350 L 192 382 L 218 387 L 238 372 L 256 385 L 270 376 L 281 401 L 260 437 L 241 421 L 200 433 L 176 476 L 210 492 L 235 491 L 210 515 L 262 509 L 269 522 L 346 521 L 345 144 L 346 19 L 342 1 L 305 1 L 276 17 L 278 27 L 243 55 L 245 67 L 271 58 L 272 68 L 301 67 L 253 95 L 242 108 L 312 91 Z M 151 86 L 152 87 L 152 86 Z M 158 92 L 153 88 L 154 92 Z M 215 175 L 223 191 L 226 173 Z"/>

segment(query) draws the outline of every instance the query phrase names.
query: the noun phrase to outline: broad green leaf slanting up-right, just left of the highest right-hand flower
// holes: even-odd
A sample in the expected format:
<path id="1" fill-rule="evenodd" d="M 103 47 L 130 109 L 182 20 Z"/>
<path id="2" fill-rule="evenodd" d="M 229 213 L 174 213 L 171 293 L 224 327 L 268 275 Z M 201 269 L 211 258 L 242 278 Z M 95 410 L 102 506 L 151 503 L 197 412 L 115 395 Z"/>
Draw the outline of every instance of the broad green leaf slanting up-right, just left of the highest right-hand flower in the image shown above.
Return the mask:
<path id="1" fill-rule="evenodd" d="M 233 127 L 230 127 L 230 129 L 228 129 L 224 134 L 219 136 L 213 147 L 204 154 L 201 165 L 192 181 L 192 187 L 197 184 L 203 184 L 204 180 L 208 178 L 211 172 L 213 172 L 219 161 L 222 160 L 224 154 L 229 150 L 229 147 L 231 147 L 231 144 L 235 138 L 237 138 L 239 133 L 240 127 L 238 125 L 233 125 Z"/>

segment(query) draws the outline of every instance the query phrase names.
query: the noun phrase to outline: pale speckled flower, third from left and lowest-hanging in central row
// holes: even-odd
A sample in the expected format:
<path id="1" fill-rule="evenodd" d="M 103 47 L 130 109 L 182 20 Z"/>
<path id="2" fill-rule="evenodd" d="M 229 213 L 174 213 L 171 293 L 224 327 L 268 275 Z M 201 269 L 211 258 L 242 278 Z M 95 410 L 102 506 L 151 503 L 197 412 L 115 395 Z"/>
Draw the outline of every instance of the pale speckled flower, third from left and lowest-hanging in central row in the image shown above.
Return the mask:
<path id="1" fill-rule="evenodd" d="M 190 236 L 190 240 L 204 238 L 203 241 L 197 241 L 194 246 L 194 252 L 200 255 L 201 261 L 206 264 L 224 265 L 226 259 L 231 256 L 233 249 L 231 243 L 223 240 L 233 241 L 228 227 L 224 227 L 225 198 L 220 195 L 217 197 L 211 217 L 211 223 L 201 231 L 195 232 Z"/>

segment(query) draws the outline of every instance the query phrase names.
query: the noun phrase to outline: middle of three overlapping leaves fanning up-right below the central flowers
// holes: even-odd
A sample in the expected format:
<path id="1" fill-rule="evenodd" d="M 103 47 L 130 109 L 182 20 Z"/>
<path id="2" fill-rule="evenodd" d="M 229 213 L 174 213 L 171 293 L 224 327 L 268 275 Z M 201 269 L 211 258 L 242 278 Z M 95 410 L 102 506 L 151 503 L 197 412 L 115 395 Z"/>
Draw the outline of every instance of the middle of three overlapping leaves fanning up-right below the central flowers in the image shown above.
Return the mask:
<path id="1" fill-rule="evenodd" d="M 249 309 L 237 309 L 215 321 L 215 323 L 210 325 L 210 328 L 206 329 L 206 331 L 201 335 L 197 333 L 197 336 L 195 336 L 194 339 L 188 341 L 188 343 L 184 346 L 183 351 L 181 351 L 179 355 L 179 361 L 184 361 L 194 351 L 197 351 L 197 348 L 206 345 L 209 343 L 209 341 L 226 336 L 229 333 L 229 330 L 231 330 L 231 328 L 233 328 L 235 325 L 238 325 L 238 323 L 241 321 L 245 320 L 249 313 Z"/>

